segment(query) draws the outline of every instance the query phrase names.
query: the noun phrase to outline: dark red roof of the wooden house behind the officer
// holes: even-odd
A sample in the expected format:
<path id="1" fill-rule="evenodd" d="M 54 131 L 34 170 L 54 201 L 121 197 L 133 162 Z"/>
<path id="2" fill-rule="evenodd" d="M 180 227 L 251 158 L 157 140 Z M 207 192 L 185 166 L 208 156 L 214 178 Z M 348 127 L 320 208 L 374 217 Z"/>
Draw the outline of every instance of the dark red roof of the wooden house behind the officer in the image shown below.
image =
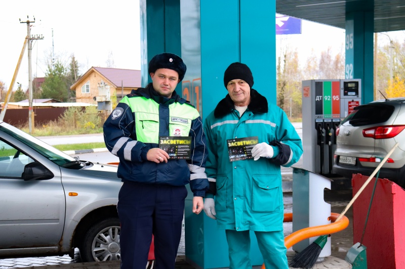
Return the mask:
<path id="1" fill-rule="evenodd" d="M 106 79 L 114 83 L 116 88 L 140 88 L 141 87 L 141 71 L 131 69 L 93 67 L 100 72 Z M 122 83 L 122 84 L 121 84 Z"/>

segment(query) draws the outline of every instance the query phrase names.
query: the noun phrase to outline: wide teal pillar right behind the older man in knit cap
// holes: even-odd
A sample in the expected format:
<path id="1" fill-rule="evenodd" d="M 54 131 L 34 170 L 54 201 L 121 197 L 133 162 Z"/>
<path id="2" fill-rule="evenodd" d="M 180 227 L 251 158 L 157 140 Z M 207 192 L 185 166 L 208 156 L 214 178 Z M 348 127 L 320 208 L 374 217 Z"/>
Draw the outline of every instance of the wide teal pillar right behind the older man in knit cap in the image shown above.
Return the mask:
<path id="1" fill-rule="evenodd" d="M 181 1 L 181 52 L 187 65 L 183 97 L 199 110 L 203 120 L 227 94 L 225 69 L 233 62 L 247 64 L 253 88 L 276 101 L 275 1 Z M 224 230 L 205 213 L 190 211 L 192 193 L 186 198 L 186 260 L 196 268 L 229 266 Z M 256 236 L 251 232 L 253 265 L 263 264 Z"/>

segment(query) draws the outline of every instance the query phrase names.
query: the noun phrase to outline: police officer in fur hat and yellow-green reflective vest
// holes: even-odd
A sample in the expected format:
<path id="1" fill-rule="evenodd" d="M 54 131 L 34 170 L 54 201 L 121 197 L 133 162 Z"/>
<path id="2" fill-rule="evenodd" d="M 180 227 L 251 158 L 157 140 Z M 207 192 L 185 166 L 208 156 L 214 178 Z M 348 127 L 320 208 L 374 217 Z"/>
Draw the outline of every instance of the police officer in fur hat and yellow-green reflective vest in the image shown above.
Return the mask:
<path id="1" fill-rule="evenodd" d="M 152 79 L 132 90 L 104 123 L 104 141 L 119 157 L 118 195 L 121 223 L 121 269 L 144 269 L 152 234 L 156 268 L 174 268 L 180 243 L 185 185 L 194 194 L 192 211 L 204 206 L 208 189 L 205 173 L 206 138 L 198 111 L 175 91 L 186 65 L 173 53 L 149 62 Z M 159 138 L 191 137 L 188 159 L 174 159 L 159 148 Z"/>

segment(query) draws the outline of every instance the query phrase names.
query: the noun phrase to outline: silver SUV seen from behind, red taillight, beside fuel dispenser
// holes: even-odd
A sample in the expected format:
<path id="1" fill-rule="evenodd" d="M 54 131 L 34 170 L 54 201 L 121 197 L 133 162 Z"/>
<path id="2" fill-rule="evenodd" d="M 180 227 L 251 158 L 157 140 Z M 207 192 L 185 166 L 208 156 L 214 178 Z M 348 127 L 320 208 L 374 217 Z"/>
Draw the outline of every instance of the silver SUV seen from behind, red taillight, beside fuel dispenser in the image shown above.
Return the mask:
<path id="1" fill-rule="evenodd" d="M 336 130 L 333 173 L 352 178 L 370 176 L 396 142 L 398 147 L 380 170 L 405 187 L 405 97 L 373 101 L 355 107 Z M 380 157 L 380 158 L 379 158 Z"/>

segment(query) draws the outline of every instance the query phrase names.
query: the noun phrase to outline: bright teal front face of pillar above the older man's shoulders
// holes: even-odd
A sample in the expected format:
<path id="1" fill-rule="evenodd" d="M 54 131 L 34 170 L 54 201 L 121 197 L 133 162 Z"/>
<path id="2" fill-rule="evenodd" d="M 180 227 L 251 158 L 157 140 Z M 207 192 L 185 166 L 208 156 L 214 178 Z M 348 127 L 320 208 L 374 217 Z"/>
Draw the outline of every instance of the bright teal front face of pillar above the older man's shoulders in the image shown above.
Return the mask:
<path id="1" fill-rule="evenodd" d="M 247 64 L 253 88 L 276 102 L 275 0 L 207 0 L 200 2 L 203 118 L 225 97 L 225 69 Z"/>

